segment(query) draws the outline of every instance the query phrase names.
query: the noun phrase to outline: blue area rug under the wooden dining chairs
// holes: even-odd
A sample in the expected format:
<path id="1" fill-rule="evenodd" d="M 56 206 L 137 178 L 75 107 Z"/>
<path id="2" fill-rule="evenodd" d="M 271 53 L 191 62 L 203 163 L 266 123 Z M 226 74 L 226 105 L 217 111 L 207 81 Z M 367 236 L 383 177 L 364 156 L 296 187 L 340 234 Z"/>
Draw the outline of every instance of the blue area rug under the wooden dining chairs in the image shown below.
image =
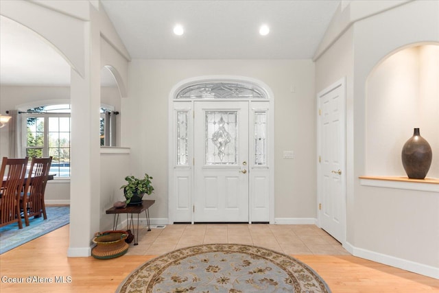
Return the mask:
<path id="1" fill-rule="evenodd" d="M 47 220 L 43 216 L 29 218 L 29 226 L 23 219 L 22 229 L 16 223 L 0 227 L 0 255 L 70 222 L 70 207 L 46 207 L 46 213 Z"/>

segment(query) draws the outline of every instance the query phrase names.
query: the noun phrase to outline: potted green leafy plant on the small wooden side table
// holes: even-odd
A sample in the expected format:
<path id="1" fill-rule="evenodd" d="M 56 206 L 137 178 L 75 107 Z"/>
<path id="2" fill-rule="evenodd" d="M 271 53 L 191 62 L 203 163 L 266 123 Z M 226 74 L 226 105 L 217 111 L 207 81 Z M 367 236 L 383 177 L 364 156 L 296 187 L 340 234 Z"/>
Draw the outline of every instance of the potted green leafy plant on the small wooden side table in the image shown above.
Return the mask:
<path id="1" fill-rule="evenodd" d="M 122 185 L 123 195 L 126 198 L 126 204 L 138 204 L 142 202 L 145 194 L 152 194 L 154 187 L 152 187 L 152 177 L 145 174 L 143 178 L 136 178 L 134 176 L 126 176 L 127 184 Z"/>

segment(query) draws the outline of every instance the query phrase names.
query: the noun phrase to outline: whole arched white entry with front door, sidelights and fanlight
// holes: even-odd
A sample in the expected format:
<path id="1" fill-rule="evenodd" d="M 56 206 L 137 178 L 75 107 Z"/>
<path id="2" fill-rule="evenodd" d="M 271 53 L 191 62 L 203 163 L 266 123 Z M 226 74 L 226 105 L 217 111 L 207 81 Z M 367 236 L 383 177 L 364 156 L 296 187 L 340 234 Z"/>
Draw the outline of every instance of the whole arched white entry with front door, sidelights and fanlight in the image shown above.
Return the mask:
<path id="1" fill-rule="evenodd" d="M 274 106 L 268 86 L 204 77 L 169 102 L 169 222 L 274 222 Z"/>

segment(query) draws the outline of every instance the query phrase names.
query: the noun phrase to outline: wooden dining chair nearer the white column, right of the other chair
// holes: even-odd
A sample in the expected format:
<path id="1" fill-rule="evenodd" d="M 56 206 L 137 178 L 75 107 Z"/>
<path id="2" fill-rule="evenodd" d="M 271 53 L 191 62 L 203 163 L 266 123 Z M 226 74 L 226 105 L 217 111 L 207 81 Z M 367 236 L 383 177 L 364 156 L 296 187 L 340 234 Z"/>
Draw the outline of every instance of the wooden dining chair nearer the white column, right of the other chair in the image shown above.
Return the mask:
<path id="1" fill-rule="evenodd" d="M 21 211 L 26 226 L 29 226 L 30 217 L 43 215 L 44 220 L 47 220 L 44 194 L 51 162 L 52 157 L 49 156 L 49 158 L 32 158 L 30 163 L 26 185 L 21 194 Z"/>

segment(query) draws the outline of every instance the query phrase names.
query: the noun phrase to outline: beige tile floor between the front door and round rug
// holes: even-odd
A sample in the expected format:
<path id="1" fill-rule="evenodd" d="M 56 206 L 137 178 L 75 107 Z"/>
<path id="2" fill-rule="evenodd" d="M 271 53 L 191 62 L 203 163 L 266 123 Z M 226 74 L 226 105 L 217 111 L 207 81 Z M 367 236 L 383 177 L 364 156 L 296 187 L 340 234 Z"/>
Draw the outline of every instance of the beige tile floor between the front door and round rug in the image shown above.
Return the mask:
<path id="1" fill-rule="evenodd" d="M 127 255 L 162 255 L 171 250 L 210 243 L 249 244 L 287 255 L 349 255 L 331 235 L 315 225 L 174 224 L 139 229 L 139 245 Z"/>

